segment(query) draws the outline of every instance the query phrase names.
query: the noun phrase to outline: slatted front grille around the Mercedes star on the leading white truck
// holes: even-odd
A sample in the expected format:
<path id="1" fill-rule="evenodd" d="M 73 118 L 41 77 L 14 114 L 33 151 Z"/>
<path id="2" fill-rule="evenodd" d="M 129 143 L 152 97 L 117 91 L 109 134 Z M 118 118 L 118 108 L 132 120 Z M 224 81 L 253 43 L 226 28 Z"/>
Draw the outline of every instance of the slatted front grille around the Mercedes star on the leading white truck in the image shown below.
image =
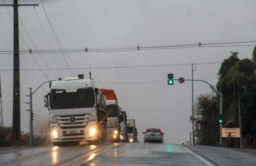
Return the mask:
<path id="1" fill-rule="evenodd" d="M 86 127 L 90 118 L 90 114 L 61 115 L 61 116 L 55 116 L 55 117 L 61 129 L 78 129 L 78 128 Z M 75 119 L 74 122 L 70 121 L 71 117 L 74 117 Z"/>

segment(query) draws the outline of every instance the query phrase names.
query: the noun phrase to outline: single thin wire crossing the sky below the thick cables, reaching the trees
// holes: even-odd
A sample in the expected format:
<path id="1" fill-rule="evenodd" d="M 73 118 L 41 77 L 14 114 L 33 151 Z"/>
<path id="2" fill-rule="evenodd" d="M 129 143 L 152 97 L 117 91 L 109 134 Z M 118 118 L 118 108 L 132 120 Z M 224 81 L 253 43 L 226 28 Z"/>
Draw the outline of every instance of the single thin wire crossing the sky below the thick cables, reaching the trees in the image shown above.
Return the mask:
<path id="1" fill-rule="evenodd" d="M 218 62 L 198 62 L 194 64 L 220 64 L 221 61 Z M 51 69 L 40 69 L 40 70 L 79 70 L 79 69 L 112 69 L 112 68 L 142 68 L 142 67 L 163 67 L 163 66 L 188 66 L 191 63 L 180 63 L 180 64 L 148 64 L 148 65 L 133 65 L 133 66 L 106 66 L 106 67 L 86 67 L 86 68 L 51 68 Z M 13 69 L 0 69 L 0 71 L 12 71 Z M 20 69 L 21 71 L 28 70 L 39 70 L 39 69 Z"/>

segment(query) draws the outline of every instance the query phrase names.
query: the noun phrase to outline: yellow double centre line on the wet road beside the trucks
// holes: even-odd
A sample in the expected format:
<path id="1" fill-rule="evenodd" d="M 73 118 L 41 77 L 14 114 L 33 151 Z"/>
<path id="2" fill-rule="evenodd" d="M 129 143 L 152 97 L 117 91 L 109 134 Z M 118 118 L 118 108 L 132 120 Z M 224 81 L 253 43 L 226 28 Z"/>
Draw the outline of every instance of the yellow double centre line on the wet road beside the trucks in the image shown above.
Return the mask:
<path id="1" fill-rule="evenodd" d="M 75 158 L 69 162 L 66 162 L 65 164 L 62 164 L 62 165 L 59 165 L 59 166 L 80 166 L 92 159 L 95 158 L 95 156 L 98 156 L 100 155 L 102 152 L 106 151 L 106 150 L 109 150 L 110 148 L 114 148 L 114 147 L 117 147 L 117 146 L 120 146 L 120 145 L 124 145 L 125 143 L 114 143 L 114 144 L 111 144 L 111 145 L 106 145 L 106 146 L 103 146 L 103 147 L 100 147 L 100 148 L 96 148 L 95 150 L 92 150 L 78 158 Z M 86 159 L 86 160 L 85 160 Z"/>

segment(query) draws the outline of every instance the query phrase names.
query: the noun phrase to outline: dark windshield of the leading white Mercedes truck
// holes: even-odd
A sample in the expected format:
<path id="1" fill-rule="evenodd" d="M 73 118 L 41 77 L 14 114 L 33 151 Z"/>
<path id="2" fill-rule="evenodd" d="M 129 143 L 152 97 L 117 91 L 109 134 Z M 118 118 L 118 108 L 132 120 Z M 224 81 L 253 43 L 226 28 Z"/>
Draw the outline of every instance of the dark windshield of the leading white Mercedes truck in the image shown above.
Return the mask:
<path id="1" fill-rule="evenodd" d="M 70 109 L 94 107 L 94 92 L 54 94 L 50 96 L 51 109 Z"/>

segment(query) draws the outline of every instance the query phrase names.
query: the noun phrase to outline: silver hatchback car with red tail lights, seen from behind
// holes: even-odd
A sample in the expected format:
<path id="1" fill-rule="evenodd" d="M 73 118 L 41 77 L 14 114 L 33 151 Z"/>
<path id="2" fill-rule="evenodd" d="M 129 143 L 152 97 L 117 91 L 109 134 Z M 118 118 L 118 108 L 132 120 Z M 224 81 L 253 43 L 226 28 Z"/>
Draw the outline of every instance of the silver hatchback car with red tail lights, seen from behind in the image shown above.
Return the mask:
<path id="1" fill-rule="evenodd" d="M 143 132 L 144 134 L 144 143 L 150 142 L 150 141 L 158 141 L 160 143 L 163 143 L 163 137 L 164 133 L 161 132 L 161 129 L 159 128 L 148 128 L 146 129 L 146 132 Z"/>

